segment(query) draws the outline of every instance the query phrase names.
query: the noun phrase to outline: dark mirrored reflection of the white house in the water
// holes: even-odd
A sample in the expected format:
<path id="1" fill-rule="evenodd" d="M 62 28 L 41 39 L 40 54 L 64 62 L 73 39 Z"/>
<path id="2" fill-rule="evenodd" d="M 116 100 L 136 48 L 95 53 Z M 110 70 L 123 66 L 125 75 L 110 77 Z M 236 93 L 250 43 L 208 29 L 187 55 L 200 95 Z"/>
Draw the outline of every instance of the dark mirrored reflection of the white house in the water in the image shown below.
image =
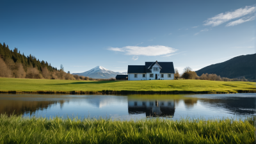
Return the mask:
<path id="1" fill-rule="evenodd" d="M 149 116 L 174 116 L 173 100 L 128 100 L 128 112 L 131 115 L 145 113 Z"/>

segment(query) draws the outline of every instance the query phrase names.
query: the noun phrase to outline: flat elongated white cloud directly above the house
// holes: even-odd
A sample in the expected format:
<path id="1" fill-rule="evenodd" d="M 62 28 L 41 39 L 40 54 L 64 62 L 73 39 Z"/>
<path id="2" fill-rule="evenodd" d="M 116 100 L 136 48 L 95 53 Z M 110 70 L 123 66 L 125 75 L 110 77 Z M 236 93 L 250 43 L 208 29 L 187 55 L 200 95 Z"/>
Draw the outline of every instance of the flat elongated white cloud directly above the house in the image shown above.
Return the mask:
<path id="1" fill-rule="evenodd" d="M 163 45 L 148 45 L 147 47 L 126 46 L 122 48 L 111 47 L 108 50 L 125 52 L 125 54 L 127 55 L 134 56 L 161 56 L 165 54 L 171 54 L 177 51 L 177 49 L 173 49 L 172 47 L 166 47 Z"/>

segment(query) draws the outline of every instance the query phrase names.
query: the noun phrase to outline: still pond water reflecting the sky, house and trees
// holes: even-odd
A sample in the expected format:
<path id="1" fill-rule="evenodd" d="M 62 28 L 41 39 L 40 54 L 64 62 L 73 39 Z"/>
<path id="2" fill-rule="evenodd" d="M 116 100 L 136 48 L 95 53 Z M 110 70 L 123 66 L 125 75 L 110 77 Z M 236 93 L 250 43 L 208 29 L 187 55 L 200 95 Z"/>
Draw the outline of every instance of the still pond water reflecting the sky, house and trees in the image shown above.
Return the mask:
<path id="1" fill-rule="evenodd" d="M 256 115 L 255 93 L 207 95 L 0 94 L 0 113 L 23 116 L 222 118 Z"/>

